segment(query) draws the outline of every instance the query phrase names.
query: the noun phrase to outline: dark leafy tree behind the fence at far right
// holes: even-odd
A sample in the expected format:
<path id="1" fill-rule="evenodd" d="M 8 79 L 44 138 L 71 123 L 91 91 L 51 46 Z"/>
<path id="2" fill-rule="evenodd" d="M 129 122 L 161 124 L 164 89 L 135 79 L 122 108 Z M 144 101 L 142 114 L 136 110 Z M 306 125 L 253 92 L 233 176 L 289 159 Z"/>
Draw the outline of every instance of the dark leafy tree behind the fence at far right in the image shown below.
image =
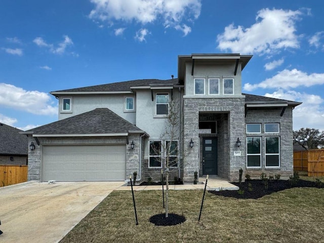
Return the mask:
<path id="1" fill-rule="evenodd" d="M 304 148 L 306 144 L 308 149 L 317 149 L 318 146 L 324 146 L 324 132 L 319 132 L 318 129 L 301 128 L 293 133 L 294 140 Z"/>

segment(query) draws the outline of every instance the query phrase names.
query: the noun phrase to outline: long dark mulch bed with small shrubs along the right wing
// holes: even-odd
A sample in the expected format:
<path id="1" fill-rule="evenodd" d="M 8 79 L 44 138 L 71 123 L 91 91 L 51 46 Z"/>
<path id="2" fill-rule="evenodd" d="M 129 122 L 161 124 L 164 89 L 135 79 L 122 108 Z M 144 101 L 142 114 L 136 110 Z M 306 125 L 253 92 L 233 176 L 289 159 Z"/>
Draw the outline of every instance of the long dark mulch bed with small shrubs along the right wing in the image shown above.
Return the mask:
<path id="1" fill-rule="evenodd" d="M 209 191 L 215 195 L 242 198 L 242 199 L 257 199 L 264 195 L 269 195 L 273 192 L 282 191 L 292 187 L 317 187 L 324 188 L 324 183 L 316 183 L 313 181 L 298 180 L 294 185 L 291 184 L 289 180 L 274 180 L 268 182 L 268 188 L 265 188 L 264 182 L 262 180 L 246 180 L 241 184 L 233 182 L 232 184 L 239 187 L 238 191 Z"/>

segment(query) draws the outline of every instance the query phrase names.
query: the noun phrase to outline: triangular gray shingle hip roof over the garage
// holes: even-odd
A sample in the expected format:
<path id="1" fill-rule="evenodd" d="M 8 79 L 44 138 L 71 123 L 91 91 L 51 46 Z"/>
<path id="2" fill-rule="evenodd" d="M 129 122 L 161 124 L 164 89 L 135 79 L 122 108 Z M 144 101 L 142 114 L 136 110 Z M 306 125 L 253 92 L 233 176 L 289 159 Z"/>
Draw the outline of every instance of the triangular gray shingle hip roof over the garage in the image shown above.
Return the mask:
<path id="1" fill-rule="evenodd" d="M 142 131 L 108 108 L 97 108 L 27 132 L 34 134 L 115 134 Z"/>

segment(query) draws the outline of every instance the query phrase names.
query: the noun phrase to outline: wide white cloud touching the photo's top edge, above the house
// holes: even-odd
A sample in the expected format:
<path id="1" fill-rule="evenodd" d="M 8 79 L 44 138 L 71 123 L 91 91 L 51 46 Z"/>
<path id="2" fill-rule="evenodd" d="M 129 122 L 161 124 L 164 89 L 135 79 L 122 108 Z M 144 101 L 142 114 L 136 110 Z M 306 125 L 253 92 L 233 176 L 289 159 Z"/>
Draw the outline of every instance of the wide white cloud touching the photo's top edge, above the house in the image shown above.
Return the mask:
<path id="1" fill-rule="evenodd" d="M 165 27 L 180 26 L 184 20 L 192 22 L 200 15 L 201 0 L 91 0 L 95 5 L 89 18 L 108 22 L 138 22 L 143 25 L 163 20 Z M 181 28 L 186 35 L 188 28 Z"/>

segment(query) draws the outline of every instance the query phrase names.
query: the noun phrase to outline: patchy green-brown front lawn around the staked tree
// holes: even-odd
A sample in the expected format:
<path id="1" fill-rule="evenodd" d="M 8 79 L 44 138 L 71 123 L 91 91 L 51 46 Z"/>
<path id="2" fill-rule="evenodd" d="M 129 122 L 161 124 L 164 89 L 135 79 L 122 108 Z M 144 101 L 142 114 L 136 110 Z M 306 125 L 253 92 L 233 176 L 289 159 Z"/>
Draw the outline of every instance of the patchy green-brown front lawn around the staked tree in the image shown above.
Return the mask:
<path id="1" fill-rule="evenodd" d="M 154 226 L 164 212 L 161 191 L 137 191 L 135 225 L 131 191 L 114 191 L 60 242 L 323 242 L 324 189 L 292 188 L 260 199 L 234 199 L 203 190 L 170 192 L 176 226 Z"/>

